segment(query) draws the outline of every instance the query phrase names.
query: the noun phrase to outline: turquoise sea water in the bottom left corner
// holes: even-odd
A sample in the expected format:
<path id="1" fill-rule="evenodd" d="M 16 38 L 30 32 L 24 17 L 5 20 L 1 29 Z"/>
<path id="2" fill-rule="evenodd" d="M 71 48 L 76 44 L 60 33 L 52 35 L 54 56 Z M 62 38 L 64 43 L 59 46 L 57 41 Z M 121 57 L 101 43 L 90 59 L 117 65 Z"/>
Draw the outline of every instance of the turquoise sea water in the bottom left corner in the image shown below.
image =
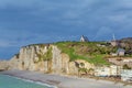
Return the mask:
<path id="1" fill-rule="evenodd" d="M 0 88 L 53 88 L 35 82 L 24 81 L 7 75 L 0 75 Z"/>

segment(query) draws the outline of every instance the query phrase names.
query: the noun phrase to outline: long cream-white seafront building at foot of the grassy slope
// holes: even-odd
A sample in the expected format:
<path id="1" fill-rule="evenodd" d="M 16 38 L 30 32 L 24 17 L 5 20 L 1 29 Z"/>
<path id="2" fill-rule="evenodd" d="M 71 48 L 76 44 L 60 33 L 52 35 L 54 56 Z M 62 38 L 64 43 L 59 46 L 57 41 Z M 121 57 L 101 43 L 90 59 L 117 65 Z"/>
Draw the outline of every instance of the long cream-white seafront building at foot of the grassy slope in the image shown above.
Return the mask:
<path id="1" fill-rule="evenodd" d="M 111 66 L 102 66 L 96 67 L 95 76 L 109 77 L 109 76 L 120 76 L 121 66 L 111 65 Z"/>

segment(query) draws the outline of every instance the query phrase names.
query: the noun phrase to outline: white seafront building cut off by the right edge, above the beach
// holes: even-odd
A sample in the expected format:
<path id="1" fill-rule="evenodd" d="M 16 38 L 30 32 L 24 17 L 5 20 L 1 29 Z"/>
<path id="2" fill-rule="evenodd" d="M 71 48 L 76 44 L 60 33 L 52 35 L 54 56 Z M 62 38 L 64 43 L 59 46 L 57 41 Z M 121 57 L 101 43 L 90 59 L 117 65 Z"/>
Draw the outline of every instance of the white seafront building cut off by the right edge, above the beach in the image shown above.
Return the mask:
<path id="1" fill-rule="evenodd" d="M 132 69 L 121 70 L 121 80 L 132 82 Z"/>

